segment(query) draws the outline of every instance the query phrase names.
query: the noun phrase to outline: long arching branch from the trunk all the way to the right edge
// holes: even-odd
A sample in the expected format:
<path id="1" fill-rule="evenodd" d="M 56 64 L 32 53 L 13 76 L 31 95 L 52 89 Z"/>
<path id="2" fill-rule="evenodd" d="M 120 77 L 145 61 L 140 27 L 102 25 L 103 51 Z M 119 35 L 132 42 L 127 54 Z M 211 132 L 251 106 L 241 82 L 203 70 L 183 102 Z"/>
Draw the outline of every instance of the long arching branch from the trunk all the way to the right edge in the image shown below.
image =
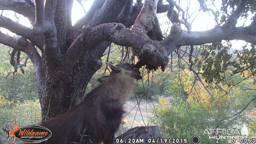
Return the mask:
<path id="1" fill-rule="evenodd" d="M 170 35 L 163 41 L 151 40 L 145 33 L 138 30 L 128 30 L 123 24 L 105 23 L 93 28 L 83 27 L 83 33 L 79 35 L 64 55 L 63 62 L 75 62 L 77 57 L 85 51 L 86 47 L 96 44 L 98 41 L 111 41 L 121 46 L 130 46 L 135 55 L 145 64 L 165 67 L 168 63 L 168 55 L 182 45 L 200 45 L 220 40 L 242 39 L 251 36 L 255 40 L 256 30 L 252 27 L 236 28 L 233 32 L 226 31 L 223 27 L 216 27 L 203 32 L 182 30 L 178 23 L 174 23 Z M 241 33 L 244 33 L 243 35 Z M 253 39 L 254 38 L 254 39 Z M 246 41 L 251 42 L 246 39 Z M 253 42 L 256 44 L 256 41 Z M 163 68 L 164 69 L 164 68 Z"/>

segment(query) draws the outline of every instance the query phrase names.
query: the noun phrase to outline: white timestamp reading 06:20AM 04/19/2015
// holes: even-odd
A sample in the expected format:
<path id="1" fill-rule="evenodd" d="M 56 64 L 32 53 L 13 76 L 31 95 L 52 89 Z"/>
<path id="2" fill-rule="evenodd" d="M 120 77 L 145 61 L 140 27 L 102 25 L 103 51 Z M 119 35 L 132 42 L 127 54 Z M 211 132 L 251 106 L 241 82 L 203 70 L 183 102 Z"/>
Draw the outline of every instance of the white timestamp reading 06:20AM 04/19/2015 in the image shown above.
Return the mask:
<path id="1" fill-rule="evenodd" d="M 148 139 L 143 139 L 143 138 L 130 138 L 130 139 L 116 139 L 116 143 L 187 143 L 188 139 L 187 138 L 148 138 Z"/>

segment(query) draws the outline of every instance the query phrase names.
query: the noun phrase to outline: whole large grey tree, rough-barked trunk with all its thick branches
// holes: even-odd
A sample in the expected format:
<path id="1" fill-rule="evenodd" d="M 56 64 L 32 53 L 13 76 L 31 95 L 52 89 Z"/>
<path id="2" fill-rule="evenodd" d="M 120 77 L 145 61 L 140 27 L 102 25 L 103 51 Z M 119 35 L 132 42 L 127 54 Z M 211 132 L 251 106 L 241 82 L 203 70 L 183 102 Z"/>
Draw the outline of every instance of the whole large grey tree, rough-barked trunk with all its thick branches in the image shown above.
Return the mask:
<path id="1" fill-rule="evenodd" d="M 103 52 L 111 43 L 132 47 L 140 58 L 137 67 L 161 66 L 162 70 L 169 54 L 183 45 L 233 39 L 256 44 L 256 16 L 250 26 L 236 27 L 245 0 L 239 2 L 225 24 L 201 32 L 182 30 L 179 23 L 187 22 L 178 20 L 178 13 L 173 11 L 174 6 L 179 9 L 178 5 L 172 0 L 167 2 L 164 5 L 162 0 L 146 0 L 144 4 L 137 1 L 133 6 L 132 0 L 95 0 L 84 17 L 72 26 L 73 0 L 45 0 L 45 3 L 35 0 L 35 5 L 31 0 L 0 0 L 1 10 L 20 13 L 33 26 L 31 29 L 0 16 L 0 27 L 19 35 L 0 33 L 0 43 L 12 47 L 13 52 L 27 53 L 34 64 L 42 121 L 62 114 L 81 101 L 86 85 L 102 66 Z M 173 25 L 169 36 L 162 40 L 156 13 L 167 11 Z M 35 46 L 42 52 L 41 56 Z"/>

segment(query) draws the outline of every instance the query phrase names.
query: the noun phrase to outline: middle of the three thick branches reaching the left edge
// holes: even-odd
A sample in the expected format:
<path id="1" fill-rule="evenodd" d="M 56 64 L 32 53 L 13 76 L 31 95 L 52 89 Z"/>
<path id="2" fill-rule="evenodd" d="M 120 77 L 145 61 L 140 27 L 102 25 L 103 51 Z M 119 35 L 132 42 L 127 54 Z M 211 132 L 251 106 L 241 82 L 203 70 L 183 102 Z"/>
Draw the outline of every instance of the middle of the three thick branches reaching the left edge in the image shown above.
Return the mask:
<path id="1" fill-rule="evenodd" d="M 32 29 L 25 27 L 9 18 L 0 16 L 0 27 L 6 28 L 11 32 L 23 36 L 33 42 L 39 49 L 43 48 L 43 36 L 33 34 Z"/>

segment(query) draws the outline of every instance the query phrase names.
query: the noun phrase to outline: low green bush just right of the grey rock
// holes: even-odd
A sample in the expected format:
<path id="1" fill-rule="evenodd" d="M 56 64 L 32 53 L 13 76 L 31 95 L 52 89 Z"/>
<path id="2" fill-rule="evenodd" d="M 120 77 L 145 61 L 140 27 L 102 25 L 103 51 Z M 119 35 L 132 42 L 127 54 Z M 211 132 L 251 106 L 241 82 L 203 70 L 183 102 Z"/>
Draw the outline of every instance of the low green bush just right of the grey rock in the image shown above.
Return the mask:
<path id="1" fill-rule="evenodd" d="M 151 122 L 159 125 L 160 130 L 165 138 L 188 138 L 199 136 L 204 143 L 215 143 L 215 140 L 209 140 L 208 135 L 203 135 L 204 130 L 210 126 L 193 125 L 200 122 L 205 122 L 208 117 L 196 103 L 184 103 L 180 101 L 177 104 L 172 104 L 166 108 L 167 99 L 159 99 L 159 104 L 156 106 L 155 117 L 151 118 Z M 159 121 L 159 123 L 158 123 Z"/>

